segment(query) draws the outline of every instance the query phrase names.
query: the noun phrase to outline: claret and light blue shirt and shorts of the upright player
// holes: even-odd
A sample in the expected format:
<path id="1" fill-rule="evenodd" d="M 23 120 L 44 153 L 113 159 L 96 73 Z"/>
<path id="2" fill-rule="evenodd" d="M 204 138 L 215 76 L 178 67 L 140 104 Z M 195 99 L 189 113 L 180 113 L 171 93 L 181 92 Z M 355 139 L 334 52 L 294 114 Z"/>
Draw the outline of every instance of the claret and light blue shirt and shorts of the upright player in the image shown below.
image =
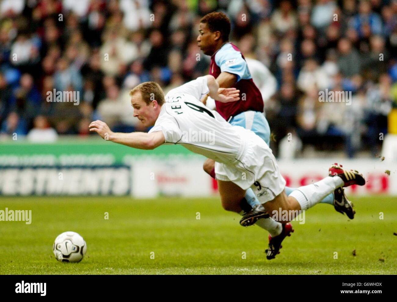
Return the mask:
<path id="1" fill-rule="evenodd" d="M 263 114 L 262 95 L 252 80 L 243 54 L 232 43 L 224 44 L 211 56 L 210 75 L 218 78 L 222 72 L 237 76 L 234 87 L 240 90 L 240 100 L 215 101 L 216 111 L 232 125 L 252 130 L 269 145 L 270 127 Z"/>

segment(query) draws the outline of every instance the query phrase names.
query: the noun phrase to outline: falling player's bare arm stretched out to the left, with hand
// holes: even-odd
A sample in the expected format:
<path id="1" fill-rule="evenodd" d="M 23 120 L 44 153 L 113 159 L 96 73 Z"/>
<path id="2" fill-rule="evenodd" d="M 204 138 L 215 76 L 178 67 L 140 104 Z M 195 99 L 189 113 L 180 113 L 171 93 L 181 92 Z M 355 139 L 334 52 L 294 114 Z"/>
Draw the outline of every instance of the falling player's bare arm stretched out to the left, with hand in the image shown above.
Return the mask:
<path id="1" fill-rule="evenodd" d="M 99 134 L 104 140 L 113 141 L 121 145 L 136 149 L 152 150 L 165 143 L 164 134 L 161 131 L 152 133 L 145 132 L 132 132 L 132 133 L 120 133 L 113 132 L 109 126 L 101 120 L 95 120 L 90 124 L 90 131 L 94 131 Z"/>

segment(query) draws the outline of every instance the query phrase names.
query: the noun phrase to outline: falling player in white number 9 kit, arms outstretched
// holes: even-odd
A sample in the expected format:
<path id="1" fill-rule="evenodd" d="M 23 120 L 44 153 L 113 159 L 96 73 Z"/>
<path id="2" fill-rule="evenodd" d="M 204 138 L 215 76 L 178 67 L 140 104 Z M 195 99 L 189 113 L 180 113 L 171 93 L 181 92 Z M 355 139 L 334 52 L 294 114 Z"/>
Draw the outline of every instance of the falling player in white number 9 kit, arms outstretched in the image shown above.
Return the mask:
<path id="1" fill-rule="evenodd" d="M 138 149 L 154 149 L 164 143 L 180 144 L 194 153 L 216 162 L 215 172 L 219 191 L 227 194 L 228 182 L 241 188 L 235 192 L 245 196 L 252 188 L 267 213 L 289 211 L 293 219 L 300 210 L 319 203 L 338 187 L 364 185 L 365 180 L 355 170 L 331 166 L 328 177 L 319 182 L 285 193 L 285 180 L 268 145 L 254 132 L 227 123 L 216 111 L 206 108 L 200 99 L 205 94 L 217 101 L 239 99 L 239 90 L 219 88 L 214 76 L 207 75 L 188 82 L 164 94 L 155 82 L 145 82 L 131 90 L 134 116 L 144 126 L 153 126 L 148 133 L 115 133 L 106 123 L 91 122 L 90 131 L 102 138 Z M 278 215 L 282 216 L 281 213 Z M 288 221 L 280 219 L 286 224 Z"/>

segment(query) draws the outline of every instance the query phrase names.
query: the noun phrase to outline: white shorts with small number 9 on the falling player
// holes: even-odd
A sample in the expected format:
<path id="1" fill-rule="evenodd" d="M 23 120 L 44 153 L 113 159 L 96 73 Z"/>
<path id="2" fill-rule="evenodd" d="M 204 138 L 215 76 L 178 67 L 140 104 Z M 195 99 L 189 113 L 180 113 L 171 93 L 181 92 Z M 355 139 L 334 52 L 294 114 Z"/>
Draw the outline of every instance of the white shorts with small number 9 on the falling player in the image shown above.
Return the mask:
<path id="1" fill-rule="evenodd" d="M 272 149 L 254 132 L 245 132 L 245 151 L 233 164 L 215 162 L 218 180 L 231 181 L 241 189 L 252 188 L 260 203 L 273 200 L 285 188 Z"/>

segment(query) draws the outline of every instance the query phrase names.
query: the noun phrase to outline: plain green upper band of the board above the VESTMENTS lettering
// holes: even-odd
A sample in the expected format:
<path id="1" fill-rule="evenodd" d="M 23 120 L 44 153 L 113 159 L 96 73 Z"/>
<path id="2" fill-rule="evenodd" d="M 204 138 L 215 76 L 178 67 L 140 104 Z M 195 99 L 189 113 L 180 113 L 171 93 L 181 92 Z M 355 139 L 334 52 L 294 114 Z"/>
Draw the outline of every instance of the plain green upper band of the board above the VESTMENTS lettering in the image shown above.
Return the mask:
<path id="1" fill-rule="evenodd" d="M 127 164 L 137 156 L 191 156 L 180 145 L 162 145 L 154 150 L 133 149 L 100 139 L 63 139 L 56 143 L 7 141 L 0 143 L 0 167 L 93 166 Z"/>

